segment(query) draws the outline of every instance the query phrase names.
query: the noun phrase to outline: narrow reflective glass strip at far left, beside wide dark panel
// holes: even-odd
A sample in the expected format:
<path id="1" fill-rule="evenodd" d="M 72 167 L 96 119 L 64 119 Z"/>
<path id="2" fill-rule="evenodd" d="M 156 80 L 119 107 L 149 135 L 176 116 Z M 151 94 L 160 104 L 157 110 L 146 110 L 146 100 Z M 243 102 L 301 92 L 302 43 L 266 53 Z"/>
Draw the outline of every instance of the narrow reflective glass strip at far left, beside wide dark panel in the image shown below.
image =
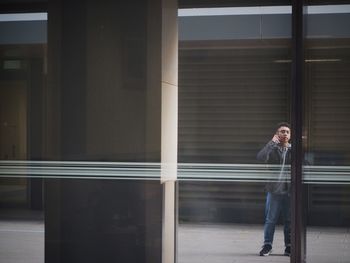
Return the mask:
<path id="1" fill-rule="evenodd" d="M 42 180 L 5 167 L 42 158 L 46 20 L 46 13 L 0 14 L 1 262 L 44 262 Z"/>

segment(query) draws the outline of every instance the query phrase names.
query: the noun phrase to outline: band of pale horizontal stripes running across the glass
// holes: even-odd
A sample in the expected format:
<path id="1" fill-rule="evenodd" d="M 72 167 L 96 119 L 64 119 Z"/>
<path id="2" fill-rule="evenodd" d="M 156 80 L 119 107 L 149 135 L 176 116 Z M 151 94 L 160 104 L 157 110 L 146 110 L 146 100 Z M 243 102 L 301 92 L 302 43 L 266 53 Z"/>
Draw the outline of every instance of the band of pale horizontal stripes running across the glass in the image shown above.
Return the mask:
<path id="1" fill-rule="evenodd" d="M 0 177 L 160 180 L 160 163 L 0 161 Z M 166 167 L 163 164 L 163 167 Z M 279 165 L 180 163 L 177 180 L 275 181 Z M 290 167 L 289 167 L 290 168 Z M 350 166 L 304 166 L 304 183 L 350 184 Z"/>

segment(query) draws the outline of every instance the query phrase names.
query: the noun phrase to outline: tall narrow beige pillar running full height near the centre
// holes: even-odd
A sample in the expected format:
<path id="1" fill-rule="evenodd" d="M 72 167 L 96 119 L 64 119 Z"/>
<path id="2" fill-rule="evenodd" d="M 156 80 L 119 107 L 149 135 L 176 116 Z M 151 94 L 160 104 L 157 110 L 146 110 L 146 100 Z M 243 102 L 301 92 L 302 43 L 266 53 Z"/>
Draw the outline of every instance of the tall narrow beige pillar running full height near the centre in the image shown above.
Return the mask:
<path id="1" fill-rule="evenodd" d="M 163 187 L 162 263 L 175 261 L 175 180 L 177 178 L 178 32 L 177 1 L 162 6 L 161 163 Z"/>

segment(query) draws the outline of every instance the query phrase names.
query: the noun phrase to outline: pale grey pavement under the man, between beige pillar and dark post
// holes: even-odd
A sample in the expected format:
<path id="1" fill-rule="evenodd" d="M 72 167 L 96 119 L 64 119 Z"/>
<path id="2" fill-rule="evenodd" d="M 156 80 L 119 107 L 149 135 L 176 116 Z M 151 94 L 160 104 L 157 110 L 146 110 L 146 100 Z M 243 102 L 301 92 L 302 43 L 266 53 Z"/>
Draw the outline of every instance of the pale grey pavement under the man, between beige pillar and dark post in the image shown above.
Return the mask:
<path id="1" fill-rule="evenodd" d="M 277 229 L 273 253 L 260 257 L 260 225 L 181 225 L 178 263 L 289 262 L 283 256 L 282 230 Z"/>

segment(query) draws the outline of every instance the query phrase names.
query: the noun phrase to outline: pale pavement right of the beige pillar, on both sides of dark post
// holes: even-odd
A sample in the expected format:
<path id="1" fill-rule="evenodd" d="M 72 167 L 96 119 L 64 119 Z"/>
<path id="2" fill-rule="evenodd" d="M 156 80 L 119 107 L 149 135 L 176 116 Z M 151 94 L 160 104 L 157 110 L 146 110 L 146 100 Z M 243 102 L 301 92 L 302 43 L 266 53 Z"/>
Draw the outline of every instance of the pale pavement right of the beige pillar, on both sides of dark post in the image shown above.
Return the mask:
<path id="1" fill-rule="evenodd" d="M 260 257 L 263 238 L 260 225 L 181 225 L 178 234 L 178 263 L 289 262 L 283 256 L 283 233 L 275 233 L 273 253 Z M 350 262 L 350 229 L 309 227 L 308 263 Z"/>

